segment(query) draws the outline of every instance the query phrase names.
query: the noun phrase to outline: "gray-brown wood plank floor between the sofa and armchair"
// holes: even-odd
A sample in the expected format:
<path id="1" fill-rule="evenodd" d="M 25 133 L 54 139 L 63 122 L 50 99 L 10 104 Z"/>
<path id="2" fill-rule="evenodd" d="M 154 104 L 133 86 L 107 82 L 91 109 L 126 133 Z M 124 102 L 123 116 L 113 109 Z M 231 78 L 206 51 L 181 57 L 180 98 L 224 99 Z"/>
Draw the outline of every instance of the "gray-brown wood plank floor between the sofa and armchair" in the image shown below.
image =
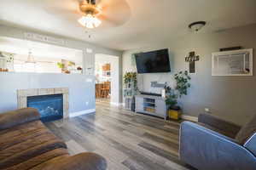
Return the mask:
<path id="1" fill-rule="evenodd" d="M 178 122 L 125 111 L 97 100 L 96 114 L 48 122 L 74 155 L 96 152 L 109 170 L 188 170 L 178 160 Z"/>

